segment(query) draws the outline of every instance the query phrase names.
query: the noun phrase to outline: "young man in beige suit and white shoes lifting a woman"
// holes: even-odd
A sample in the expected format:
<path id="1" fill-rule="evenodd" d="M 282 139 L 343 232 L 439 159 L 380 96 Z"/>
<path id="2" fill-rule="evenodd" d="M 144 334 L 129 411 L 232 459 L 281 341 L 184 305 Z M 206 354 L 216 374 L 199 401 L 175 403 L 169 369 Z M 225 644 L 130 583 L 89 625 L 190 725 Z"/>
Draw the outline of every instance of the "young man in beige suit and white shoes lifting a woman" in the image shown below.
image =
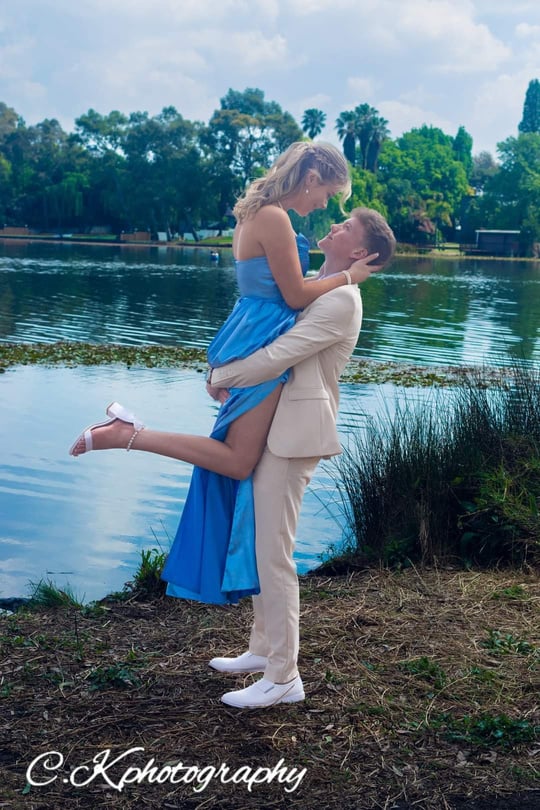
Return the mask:
<path id="1" fill-rule="evenodd" d="M 319 277 L 343 272 L 353 261 L 378 253 L 378 270 L 392 257 L 395 238 L 384 218 L 355 209 L 333 225 L 319 247 L 325 262 Z M 366 269 L 366 278 L 372 271 Z M 360 332 L 362 301 L 356 285 L 339 287 L 316 299 L 295 326 L 269 346 L 243 360 L 216 368 L 209 393 L 273 379 L 291 366 L 267 445 L 253 478 L 257 568 L 261 592 L 253 597 L 254 621 L 248 652 L 214 658 L 221 672 L 263 672 L 245 689 L 222 701 L 237 708 L 265 708 L 303 700 L 298 673 L 299 587 L 293 562 L 294 538 L 305 488 L 321 458 L 341 452 L 336 416 L 339 377 Z"/>

